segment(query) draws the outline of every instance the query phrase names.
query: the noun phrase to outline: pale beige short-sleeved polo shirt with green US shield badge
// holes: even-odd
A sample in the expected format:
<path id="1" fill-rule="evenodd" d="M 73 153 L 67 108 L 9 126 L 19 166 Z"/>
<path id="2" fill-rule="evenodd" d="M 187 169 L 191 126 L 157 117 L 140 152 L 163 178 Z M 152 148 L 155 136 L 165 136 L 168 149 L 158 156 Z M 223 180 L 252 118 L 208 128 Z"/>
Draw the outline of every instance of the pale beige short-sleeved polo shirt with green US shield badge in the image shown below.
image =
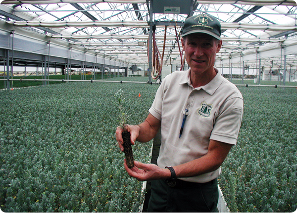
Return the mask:
<path id="1" fill-rule="evenodd" d="M 217 71 L 207 85 L 194 88 L 190 71 L 175 71 L 159 86 L 149 113 L 161 121 L 160 168 L 198 159 L 208 152 L 209 140 L 236 144 L 243 115 L 243 97 L 238 88 Z M 179 138 L 185 109 L 188 109 Z M 208 182 L 221 169 L 194 177 L 190 182 Z"/>

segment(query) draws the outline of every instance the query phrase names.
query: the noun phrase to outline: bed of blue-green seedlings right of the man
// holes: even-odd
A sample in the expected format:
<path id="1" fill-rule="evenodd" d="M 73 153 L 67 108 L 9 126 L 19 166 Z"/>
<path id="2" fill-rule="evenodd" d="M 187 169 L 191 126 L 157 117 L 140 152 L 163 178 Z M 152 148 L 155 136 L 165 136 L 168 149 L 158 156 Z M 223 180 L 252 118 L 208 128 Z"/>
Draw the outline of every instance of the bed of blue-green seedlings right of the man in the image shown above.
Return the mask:
<path id="1" fill-rule="evenodd" d="M 244 116 L 219 183 L 231 213 L 297 210 L 297 90 L 239 87 Z"/>

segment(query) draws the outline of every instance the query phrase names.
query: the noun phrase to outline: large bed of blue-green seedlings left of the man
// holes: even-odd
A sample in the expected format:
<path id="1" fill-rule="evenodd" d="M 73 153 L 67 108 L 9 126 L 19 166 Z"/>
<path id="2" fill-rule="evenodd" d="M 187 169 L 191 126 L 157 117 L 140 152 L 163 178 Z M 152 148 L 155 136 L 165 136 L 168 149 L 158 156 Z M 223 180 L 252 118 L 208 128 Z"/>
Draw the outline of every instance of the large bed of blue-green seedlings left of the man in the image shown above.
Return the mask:
<path id="1" fill-rule="evenodd" d="M 123 111 L 138 124 L 148 116 L 157 87 L 66 83 L 0 91 L 0 209 L 138 212 L 143 183 L 123 167 L 114 94 L 127 91 Z M 136 143 L 135 158 L 148 163 L 151 145 Z"/>

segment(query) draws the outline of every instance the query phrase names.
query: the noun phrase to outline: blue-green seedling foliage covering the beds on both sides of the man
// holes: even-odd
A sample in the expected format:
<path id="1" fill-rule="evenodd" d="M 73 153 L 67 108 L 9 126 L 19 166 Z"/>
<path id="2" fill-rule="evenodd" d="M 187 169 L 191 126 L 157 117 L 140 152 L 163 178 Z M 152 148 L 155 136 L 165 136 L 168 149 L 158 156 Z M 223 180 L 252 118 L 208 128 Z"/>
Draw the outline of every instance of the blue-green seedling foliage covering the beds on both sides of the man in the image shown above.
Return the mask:
<path id="1" fill-rule="evenodd" d="M 130 124 L 138 124 L 147 117 L 157 87 L 65 83 L 1 90 L 2 212 L 137 213 L 142 182 L 123 168 L 114 136 L 114 94 L 127 93 L 123 111 Z M 228 207 L 231 213 L 295 212 L 297 90 L 239 88 L 245 104 L 242 128 L 219 177 Z M 151 142 L 136 143 L 135 158 L 149 162 L 150 149 Z"/>

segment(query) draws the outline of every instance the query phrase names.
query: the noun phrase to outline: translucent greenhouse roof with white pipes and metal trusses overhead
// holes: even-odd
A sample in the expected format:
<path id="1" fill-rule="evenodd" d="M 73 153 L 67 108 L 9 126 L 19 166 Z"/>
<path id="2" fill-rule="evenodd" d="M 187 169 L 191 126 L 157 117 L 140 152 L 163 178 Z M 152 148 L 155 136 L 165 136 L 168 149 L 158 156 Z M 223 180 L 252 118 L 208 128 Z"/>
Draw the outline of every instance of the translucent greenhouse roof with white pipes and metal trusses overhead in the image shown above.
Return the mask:
<path id="1" fill-rule="evenodd" d="M 235 56 L 297 45 L 294 0 L 194 0 L 189 14 L 165 10 L 157 13 L 150 3 L 149 0 L 3 0 L 0 20 L 132 64 L 148 61 L 150 25 L 156 26 L 160 52 L 164 44 L 164 64 L 181 64 L 177 40 L 183 22 L 192 13 L 209 14 L 220 20 L 223 47 L 217 54 L 218 63 Z M 285 53 L 289 64 L 296 63 L 297 48 L 292 49 Z M 262 57 L 264 65 L 271 61 L 281 63 L 282 56 L 278 53 Z M 250 64 L 254 63 L 251 59 Z"/>

